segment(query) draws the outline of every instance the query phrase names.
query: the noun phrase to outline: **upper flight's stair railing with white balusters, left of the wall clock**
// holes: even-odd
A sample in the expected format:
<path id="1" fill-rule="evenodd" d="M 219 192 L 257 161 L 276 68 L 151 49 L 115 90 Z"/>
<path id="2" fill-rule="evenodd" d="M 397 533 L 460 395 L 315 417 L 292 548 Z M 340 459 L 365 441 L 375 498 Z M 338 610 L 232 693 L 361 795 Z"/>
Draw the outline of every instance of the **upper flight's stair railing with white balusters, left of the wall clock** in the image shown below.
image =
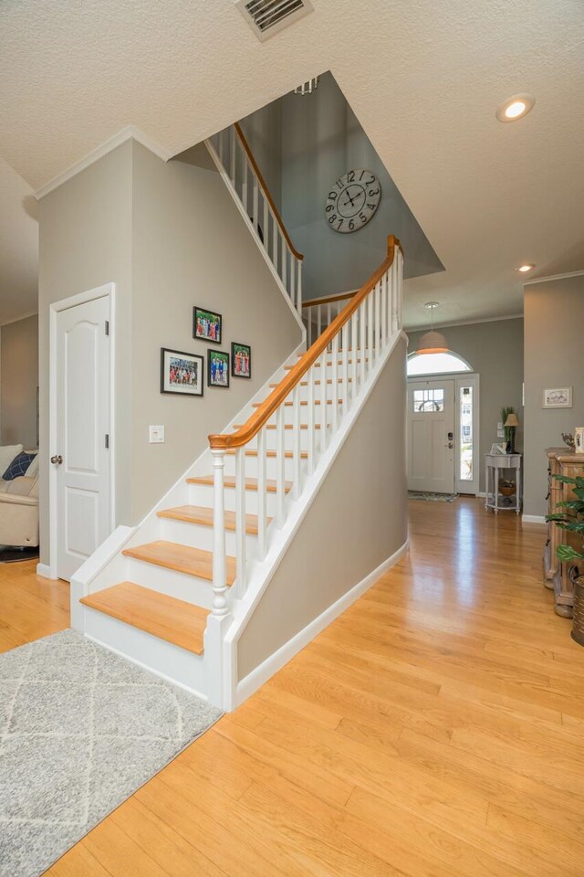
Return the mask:
<path id="1" fill-rule="evenodd" d="M 224 180 L 244 208 L 245 216 L 272 263 L 287 295 L 302 315 L 302 260 L 282 221 L 276 202 L 238 122 L 214 134 L 207 146 Z"/>

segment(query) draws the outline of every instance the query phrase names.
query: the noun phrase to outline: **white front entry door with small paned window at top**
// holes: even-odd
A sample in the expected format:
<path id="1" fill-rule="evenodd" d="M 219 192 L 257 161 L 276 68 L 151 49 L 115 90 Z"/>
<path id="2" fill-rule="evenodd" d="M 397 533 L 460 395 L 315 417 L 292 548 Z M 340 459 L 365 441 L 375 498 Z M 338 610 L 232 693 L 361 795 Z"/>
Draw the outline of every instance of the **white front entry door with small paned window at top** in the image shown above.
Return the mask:
<path id="1" fill-rule="evenodd" d="M 454 380 L 408 383 L 408 490 L 454 493 Z"/>

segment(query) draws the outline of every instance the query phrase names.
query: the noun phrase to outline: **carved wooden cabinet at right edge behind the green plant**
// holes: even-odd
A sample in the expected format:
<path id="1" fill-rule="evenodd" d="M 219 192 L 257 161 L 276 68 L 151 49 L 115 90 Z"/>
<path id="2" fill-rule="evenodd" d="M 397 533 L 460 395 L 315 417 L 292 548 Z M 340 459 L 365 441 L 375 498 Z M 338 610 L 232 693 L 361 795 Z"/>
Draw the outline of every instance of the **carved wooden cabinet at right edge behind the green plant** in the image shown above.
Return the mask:
<path id="1" fill-rule="evenodd" d="M 584 474 L 584 454 L 575 454 L 567 448 L 548 448 L 547 454 L 547 511 L 549 514 L 558 511 L 558 502 L 575 499 L 571 485 L 557 481 L 554 475 L 568 475 L 575 478 Z M 574 605 L 574 586 L 569 577 L 570 564 L 560 564 L 556 556 L 559 544 L 571 544 L 578 549 L 581 538 L 578 534 L 567 533 L 555 523 L 547 524 L 547 541 L 544 547 L 544 584 L 554 590 L 556 612 L 564 618 L 572 617 Z"/>

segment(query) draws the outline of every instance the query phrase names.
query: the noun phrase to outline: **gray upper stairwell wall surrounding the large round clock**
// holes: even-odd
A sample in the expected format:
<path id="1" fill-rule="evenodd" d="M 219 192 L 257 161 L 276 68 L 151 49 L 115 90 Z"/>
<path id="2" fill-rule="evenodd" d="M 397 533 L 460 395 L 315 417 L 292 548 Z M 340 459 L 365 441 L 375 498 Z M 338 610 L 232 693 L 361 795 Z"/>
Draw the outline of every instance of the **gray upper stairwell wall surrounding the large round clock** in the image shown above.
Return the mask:
<path id="1" fill-rule="evenodd" d="M 287 94 L 248 116 L 242 127 L 274 187 L 290 238 L 304 254 L 304 299 L 358 289 L 384 259 L 389 234 L 405 248 L 406 278 L 443 270 L 330 73 L 320 77 L 313 94 Z M 379 178 L 381 204 L 366 227 L 341 235 L 328 227 L 325 202 L 331 184 L 358 167 Z"/>

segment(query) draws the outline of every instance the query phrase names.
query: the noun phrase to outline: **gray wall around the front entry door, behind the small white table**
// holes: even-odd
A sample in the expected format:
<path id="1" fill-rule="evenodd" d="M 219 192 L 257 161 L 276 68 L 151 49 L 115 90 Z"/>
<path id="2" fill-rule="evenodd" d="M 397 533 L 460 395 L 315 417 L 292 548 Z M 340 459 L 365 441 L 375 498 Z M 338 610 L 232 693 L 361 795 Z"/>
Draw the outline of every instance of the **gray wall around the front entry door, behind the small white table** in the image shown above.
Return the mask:
<path id="1" fill-rule="evenodd" d="M 424 330 L 425 331 L 425 330 Z M 523 320 L 475 322 L 441 330 L 448 346 L 460 354 L 480 375 L 479 470 L 480 491 L 485 491 L 483 455 L 497 439 L 496 425 L 503 406 L 513 406 L 521 421 L 516 430 L 516 449 L 523 448 Z M 409 332 L 408 352 L 415 351 L 423 332 Z"/>

